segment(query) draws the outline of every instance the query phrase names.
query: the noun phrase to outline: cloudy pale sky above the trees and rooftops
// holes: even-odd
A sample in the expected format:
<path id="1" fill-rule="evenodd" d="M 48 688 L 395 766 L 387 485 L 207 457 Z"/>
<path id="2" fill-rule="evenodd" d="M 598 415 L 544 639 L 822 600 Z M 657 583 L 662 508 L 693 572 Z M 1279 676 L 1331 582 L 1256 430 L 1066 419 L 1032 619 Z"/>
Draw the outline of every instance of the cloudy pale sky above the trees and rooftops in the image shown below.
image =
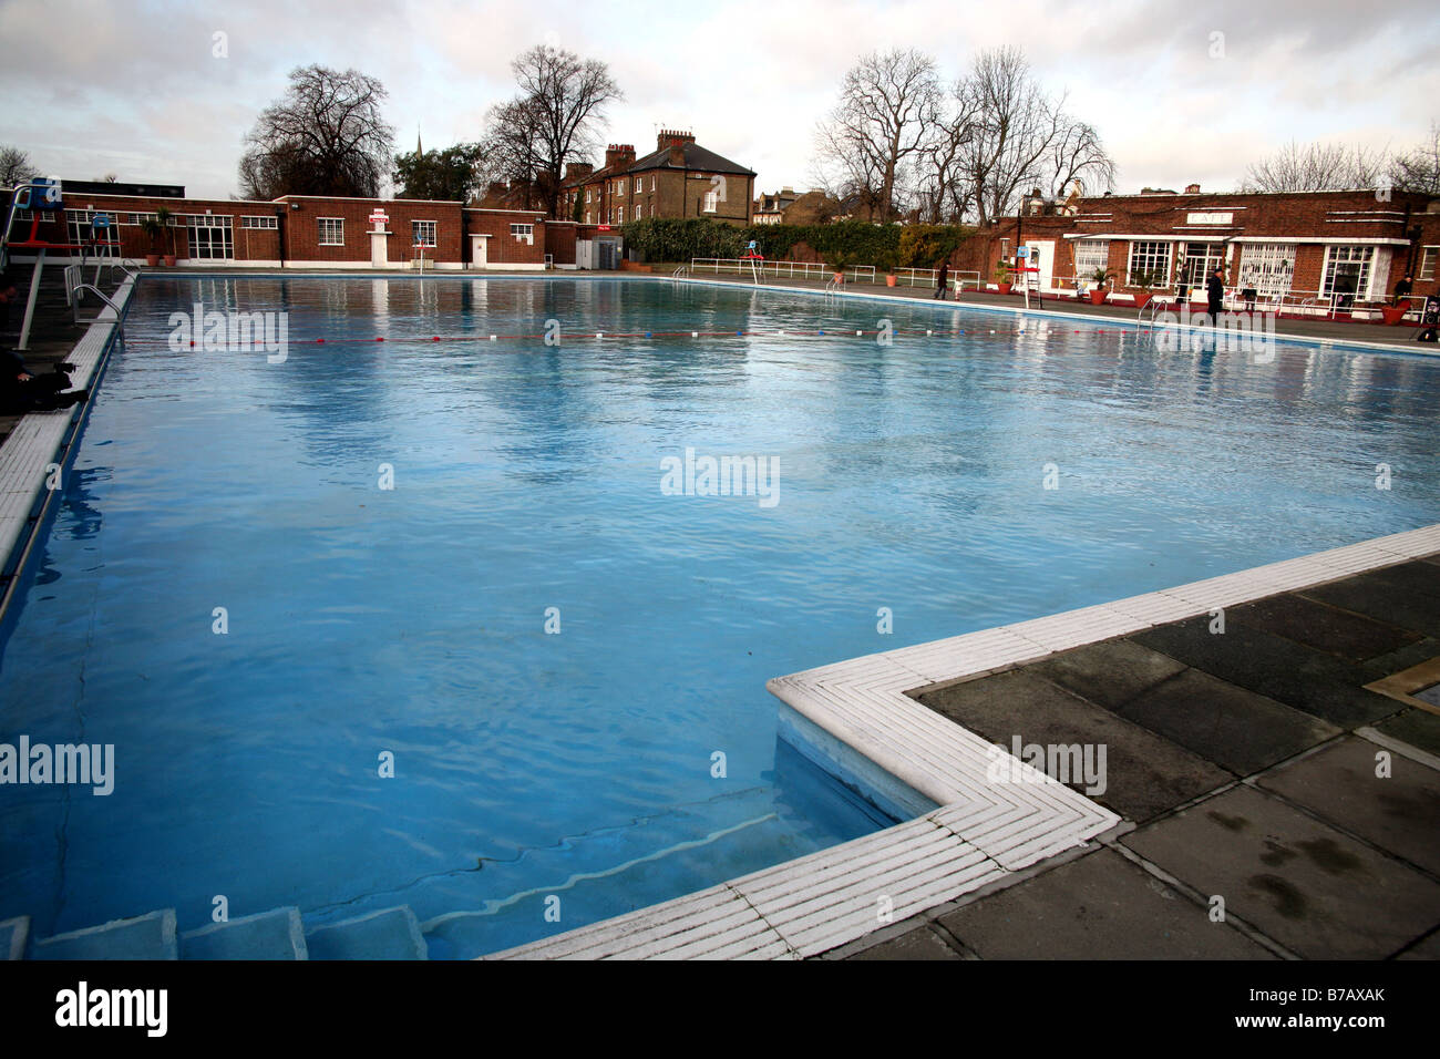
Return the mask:
<path id="1" fill-rule="evenodd" d="M 917 48 L 953 78 L 978 49 L 1018 45 L 1100 131 L 1117 190 L 1230 190 L 1292 138 L 1418 143 L 1440 120 L 1437 12 L 1434 0 L 0 0 L 0 144 L 43 174 L 223 199 L 238 192 L 245 133 L 295 66 L 379 78 L 397 150 L 416 133 L 433 148 L 478 140 L 487 108 L 514 94 L 510 61 L 550 43 L 609 63 L 625 101 L 602 138 L 645 154 L 658 130 L 690 130 L 756 170 L 757 190 L 805 190 L 816 122 L 857 56 Z"/>

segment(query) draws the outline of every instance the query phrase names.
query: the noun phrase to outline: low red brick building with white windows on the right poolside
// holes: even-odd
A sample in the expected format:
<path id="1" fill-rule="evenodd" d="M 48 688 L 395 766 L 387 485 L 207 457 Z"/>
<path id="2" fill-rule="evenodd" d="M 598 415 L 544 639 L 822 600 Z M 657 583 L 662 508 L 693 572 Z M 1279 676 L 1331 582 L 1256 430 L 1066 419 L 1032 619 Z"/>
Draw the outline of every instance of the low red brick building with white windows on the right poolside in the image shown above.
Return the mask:
<path id="1" fill-rule="evenodd" d="M 1424 195 L 1202 193 L 1191 184 L 1184 193 L 1079 199 L 1050 215 L 1037 215 L 1040 207 L 1031 199 L 1021 218 L 981 229 L 956 267 L 994 281 L 996 264 L 1027 246 L 1040 255 L 1047 292 L 1090 287 L 1106 268 L 1122 297 L 1140 292 L 1136 280 L 1149 271 L 1155 292 L 1184 288 L 1204 300 L 1217 265 L 1227 287 L 1253 287 L 1263 301 L 1382 301 L 1407 271 L 1417 295 L 1440 292 L 1440 199 Z"/>

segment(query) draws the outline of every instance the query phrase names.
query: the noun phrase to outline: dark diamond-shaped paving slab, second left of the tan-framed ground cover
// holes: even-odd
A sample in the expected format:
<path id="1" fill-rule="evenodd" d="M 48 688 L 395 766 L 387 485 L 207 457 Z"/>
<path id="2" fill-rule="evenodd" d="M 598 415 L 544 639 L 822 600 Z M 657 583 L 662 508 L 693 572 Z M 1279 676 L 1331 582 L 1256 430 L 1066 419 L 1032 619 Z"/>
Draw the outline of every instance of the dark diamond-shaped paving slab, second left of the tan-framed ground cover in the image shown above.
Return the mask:
<path id="1" fill-rule="evenodd" d="M 1236 775 L 1250 775 L 1339 732 L 1284 703 L 1185 670 L 1142 693 L 1120 713 Z"/>

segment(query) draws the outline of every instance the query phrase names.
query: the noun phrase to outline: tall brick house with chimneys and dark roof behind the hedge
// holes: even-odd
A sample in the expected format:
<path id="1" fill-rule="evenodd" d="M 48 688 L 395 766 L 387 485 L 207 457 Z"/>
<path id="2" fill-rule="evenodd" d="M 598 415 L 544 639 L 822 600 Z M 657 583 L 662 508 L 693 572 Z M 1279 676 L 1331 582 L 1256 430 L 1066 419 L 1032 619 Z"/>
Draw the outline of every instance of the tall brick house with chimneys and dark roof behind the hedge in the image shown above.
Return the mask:
<path id="1" fill-rule="evenodd" d="M 691 133 L 664 130 L 642 158 L 635 157 L 634 144 L 611 144 L 600 169 L 572 164 L 562 196 L 562 212 L 590 225 L 648 218 L 749 225 L 755 171 L 701 147 Z"/>

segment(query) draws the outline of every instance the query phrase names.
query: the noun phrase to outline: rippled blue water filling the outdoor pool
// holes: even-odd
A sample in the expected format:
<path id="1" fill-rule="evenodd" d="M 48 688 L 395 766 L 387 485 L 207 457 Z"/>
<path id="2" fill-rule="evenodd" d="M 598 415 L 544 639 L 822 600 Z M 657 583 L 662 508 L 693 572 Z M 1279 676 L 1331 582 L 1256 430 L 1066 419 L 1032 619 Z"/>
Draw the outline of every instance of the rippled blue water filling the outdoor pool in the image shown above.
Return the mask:
<path id="1" fill-rule="evenodd" d="M 196 301 L 288 311 L 288 359 L 173 352 Z M 115 791 L 0 787 L 0 919 L 408 903 L 433 955 L 494 951 L 890 823 L 778 743 L 772 676 L 1437 520 L 1440 365 L 1011 327 L 147 277 L 0 669 L 0 741 L 114 743 Z M 665 494 L 687 448 L 776 461 L 776 503 Z"/>

